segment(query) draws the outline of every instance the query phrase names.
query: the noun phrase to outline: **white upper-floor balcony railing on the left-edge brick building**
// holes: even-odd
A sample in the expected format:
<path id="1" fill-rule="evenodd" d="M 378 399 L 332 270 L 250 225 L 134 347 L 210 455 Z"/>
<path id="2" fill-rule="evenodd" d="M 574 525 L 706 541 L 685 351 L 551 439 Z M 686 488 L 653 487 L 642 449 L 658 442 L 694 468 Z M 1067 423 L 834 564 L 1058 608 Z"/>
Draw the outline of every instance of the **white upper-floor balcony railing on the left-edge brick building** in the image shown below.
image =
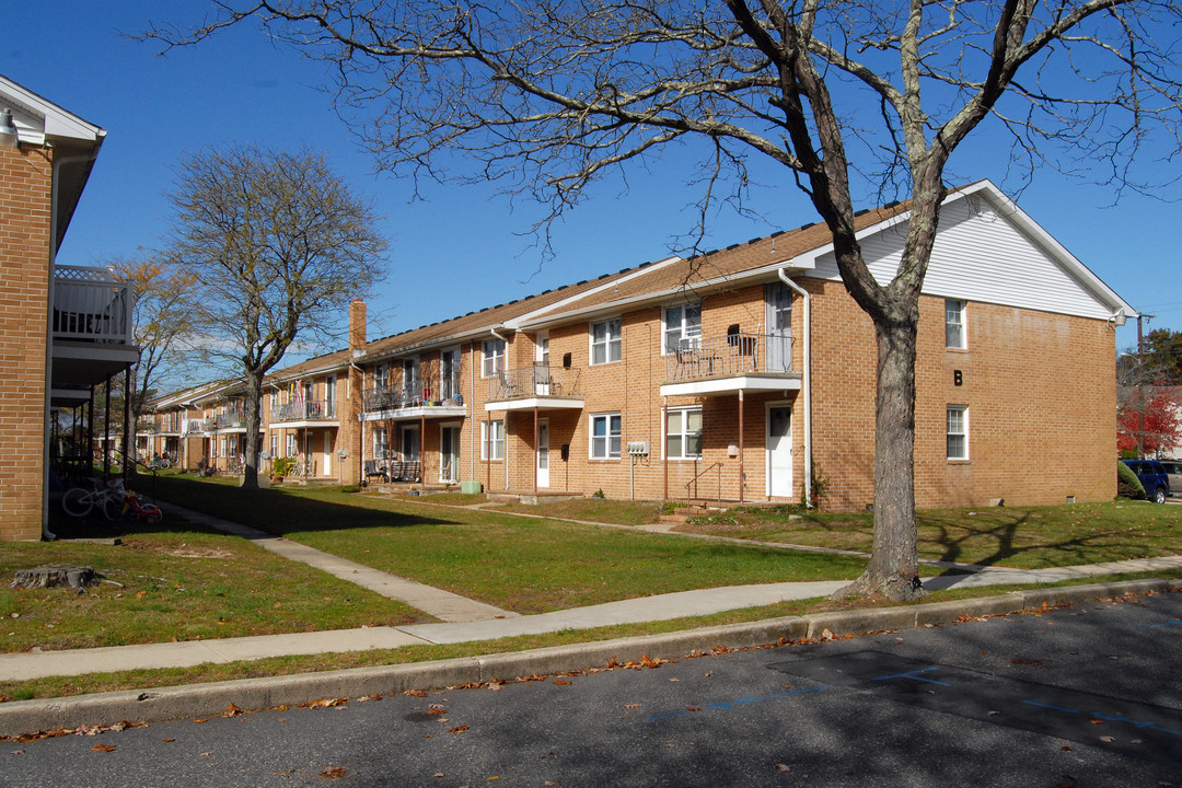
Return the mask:
<path id="1" fill-rule="evenodd" d="M 53 337 L 131 345 L 130 282 L 116 281 L 105 268 L 56 266 L 53 273 Z"/>

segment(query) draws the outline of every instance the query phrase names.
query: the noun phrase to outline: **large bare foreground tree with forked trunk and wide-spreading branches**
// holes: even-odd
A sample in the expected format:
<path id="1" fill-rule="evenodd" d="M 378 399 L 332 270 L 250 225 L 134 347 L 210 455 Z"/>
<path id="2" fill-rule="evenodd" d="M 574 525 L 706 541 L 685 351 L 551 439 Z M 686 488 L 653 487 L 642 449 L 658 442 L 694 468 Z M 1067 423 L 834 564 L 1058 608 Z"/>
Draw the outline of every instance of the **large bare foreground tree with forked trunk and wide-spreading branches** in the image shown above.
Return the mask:
<path id="1" fill-rule="evenodd" d="M 591 181 L 696 151 L 703 201 L 741 197 L 755 162 L 807 193 L 878 347 L 875 543 L 839 594 L 922 594 L 913 447 L 918 297 L 944 168 L 981 124 L 1018 165 L 1102 168 L 1129 183 L 1154 131 L 1178 149 L 1178 7 L 1143 0 L 221 0 L 195 44 L 256 20 L 336 66 L 338 106 L 388 168 L 494 180 L 548 206 Z M 1020 77 L 1020 79 L 1019 79 Z M 696 146 L 695 146 L 696 145 Z M 449 156 L 460 151 L 461 157 Z M 1061 156 L 1061 157 L 1060 157 Z M 453 172 L 457 161 L 472 168 Z M 855 185 L 910 198 L 902 263 L 868 269 Z M 703 210 L 704 215 L 704 210 Z"/>

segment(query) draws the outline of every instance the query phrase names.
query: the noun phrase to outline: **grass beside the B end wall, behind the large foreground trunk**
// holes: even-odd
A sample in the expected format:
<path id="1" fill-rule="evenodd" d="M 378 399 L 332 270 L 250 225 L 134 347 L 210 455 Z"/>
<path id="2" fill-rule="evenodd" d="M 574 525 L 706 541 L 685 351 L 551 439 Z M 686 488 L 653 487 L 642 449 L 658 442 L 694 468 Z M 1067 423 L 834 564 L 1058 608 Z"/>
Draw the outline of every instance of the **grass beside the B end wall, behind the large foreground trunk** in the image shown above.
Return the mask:
<path id="1" fill-rule="evenodd" d="M 929 509 L 917 514 L 920 558 L 1037 569 L 1182 553 L 1182 507 L 1145 501 Z M 677 530 L 869 552 L 870 513 L 738 508 Z"/>

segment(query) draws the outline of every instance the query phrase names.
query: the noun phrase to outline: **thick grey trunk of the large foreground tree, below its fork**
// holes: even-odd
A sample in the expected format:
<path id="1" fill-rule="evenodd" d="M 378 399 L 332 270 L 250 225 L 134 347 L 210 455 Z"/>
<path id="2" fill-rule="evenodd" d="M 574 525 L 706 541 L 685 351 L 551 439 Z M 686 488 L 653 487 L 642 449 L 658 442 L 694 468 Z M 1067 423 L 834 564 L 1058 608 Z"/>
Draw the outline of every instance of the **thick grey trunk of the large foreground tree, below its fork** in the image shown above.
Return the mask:
<path id="1" fill-rule="evenodd" d="M 905 307 L 904 307 L 905 308 Z M 908 312 L 915 312 L 913 302 Z M 875 540 L 860 578 L 834 598 L 882 594 L 894 601 L 927 594 L 920 582 L 915 527 L 916 320 L 876 321 Z"/>

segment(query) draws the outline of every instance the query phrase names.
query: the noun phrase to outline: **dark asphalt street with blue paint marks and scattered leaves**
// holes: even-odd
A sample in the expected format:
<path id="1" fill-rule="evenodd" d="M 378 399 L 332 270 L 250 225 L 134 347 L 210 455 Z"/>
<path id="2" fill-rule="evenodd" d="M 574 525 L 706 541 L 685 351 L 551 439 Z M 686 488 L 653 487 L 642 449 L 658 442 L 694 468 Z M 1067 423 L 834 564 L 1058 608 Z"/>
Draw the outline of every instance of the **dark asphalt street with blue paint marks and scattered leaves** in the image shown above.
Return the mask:
<path id="1" fill-rule="evenodd" d="M 0 743 L 22 786 L 1182 787 L 1182 594 Z"/>

